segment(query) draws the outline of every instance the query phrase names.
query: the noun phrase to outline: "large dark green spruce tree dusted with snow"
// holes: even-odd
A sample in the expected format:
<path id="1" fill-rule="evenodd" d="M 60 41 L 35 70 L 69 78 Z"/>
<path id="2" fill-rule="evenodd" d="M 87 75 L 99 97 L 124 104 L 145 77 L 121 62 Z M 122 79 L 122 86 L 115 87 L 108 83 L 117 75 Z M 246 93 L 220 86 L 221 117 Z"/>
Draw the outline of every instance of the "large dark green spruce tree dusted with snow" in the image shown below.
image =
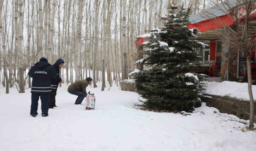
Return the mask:
<path id="1" fill-rule="evenodd" d="M 161 17 L 165 26 L 152 29 L 149 41 L 143 43 L 149 49 L 137 62 L 151 69 L 133 74 L 136 91 L 146 99 L 143 106 L 148 109 L 191 112 L 201 106 L 200 92 L 206 79 L 206 75 L 192 73 L 199 56 L 195 48 L 203 45 L 189 40 L 199 33 L 187 27 L 191 9 L 168 7 L 169 15 Z"/>

